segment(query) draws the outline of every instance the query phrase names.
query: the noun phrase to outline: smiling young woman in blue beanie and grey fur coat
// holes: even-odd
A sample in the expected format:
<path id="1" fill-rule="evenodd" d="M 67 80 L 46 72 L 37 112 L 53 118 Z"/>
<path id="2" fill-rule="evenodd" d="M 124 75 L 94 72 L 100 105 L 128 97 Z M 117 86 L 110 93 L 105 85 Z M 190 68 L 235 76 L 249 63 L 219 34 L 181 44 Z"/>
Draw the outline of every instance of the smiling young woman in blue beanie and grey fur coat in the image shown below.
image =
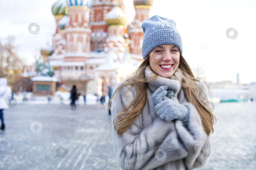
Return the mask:
<path id="1" fill-rule="evenodd" d="M 115 86 L 111 101 L 118 163 L 135 170 L 201 167 L 216 120 L 207 88 L 182 56 L 174 20 L 155 15 L 142 28 L 144 61 Z"/>

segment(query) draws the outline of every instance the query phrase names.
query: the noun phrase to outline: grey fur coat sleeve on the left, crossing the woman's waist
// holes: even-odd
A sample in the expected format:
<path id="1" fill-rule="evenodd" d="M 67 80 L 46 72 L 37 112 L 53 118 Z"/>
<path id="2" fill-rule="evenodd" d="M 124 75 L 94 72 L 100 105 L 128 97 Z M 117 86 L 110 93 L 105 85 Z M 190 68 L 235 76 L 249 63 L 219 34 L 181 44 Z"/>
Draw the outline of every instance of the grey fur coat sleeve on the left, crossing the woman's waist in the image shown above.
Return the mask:
<path id="1" fill-rule="evenodd" d="M 115 106 L 112 106 L 112 120 L 133 101 L 136 95 L 135 89 L 131 88 L 125 92 L 126 90 L 128 90 L 127 87 L 120 88 L 113 96 Z M 143 122 L 146 121 L 144 114 L 151 112 L 148 100 L 149 98 L 147 98 L 143 113 L 140 113 L 122 137 L 118 136 L 112 127 L 115 153 L 122 169 L 155 169 L 170 161 L 181 160 L 187 156 L 184 146 L 177 137 L 174 122 L 168 123 L 160 118 L 155 118 L 144 127 Z M 166 156 L 164 159 L 159 158 L 158 154 L 155 156 L 161 151 L 164 152 L 162 152 L 163 156 Z"/>

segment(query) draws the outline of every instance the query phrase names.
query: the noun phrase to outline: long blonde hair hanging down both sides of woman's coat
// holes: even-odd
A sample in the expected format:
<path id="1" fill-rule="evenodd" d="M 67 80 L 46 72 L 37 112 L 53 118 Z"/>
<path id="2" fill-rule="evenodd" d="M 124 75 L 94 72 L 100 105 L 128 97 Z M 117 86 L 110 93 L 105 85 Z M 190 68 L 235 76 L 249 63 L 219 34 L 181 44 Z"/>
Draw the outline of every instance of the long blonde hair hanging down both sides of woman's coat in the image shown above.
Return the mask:
<path id="1" fill-rule="evenodd" d="M 125 108 L 125 110 L 118 113 L 113 120 L 114 128 L 117 131 L 117 134 L 119 136 L 121 136 L 123 133 L 125 133 L 128 130 L 131 124 L 136 120 L 139 113 L 142 111 L 143 107 L 146 105 L 145 96 L 146 96 L 146 90 L 147 90 L 147 82 L 152 81 L 157 77 L 156 75 L 153 78 L 150 78 L 150 80 L 148 80 L 145 77 L 145 69 L 147 68 L 148 65 L 149 65 L 149 55 L 138 67 L 138 69 L 128 79 L 126 79 L 115 90 L 115 92 L 112 95 L 112 98 L 113 98 L 114 94 L 117 92 L 119 88 L 122 88 L 127 85 L 129 85 L 131 88 L 135 86 L 137 89 L 137 96 L 135 97 L 135 99 L 131 102 L 131 104 L 127 108 Z M 204 98 L 205 100 L 207 100 L 203 89 L 197 83 L 195 83 L 196 81 L 197 82 L 199 81 L 194 77 L 191 71 L 191 68 L 189 67 L 186 60 L 183 58 L 181 54 L 180 54 L 179 68 L 182 71 L 180 74 L 184 77 L 182 80 L 180 80 L 181 84 L 183 85 L 184 94 L 188 102 L 194 105 L 195 108 L 197 109 L 198 114 L 201 117 L 202 125 L 204 127 L 205 133 L 207 135 L 210 135 L 210 133 L 214 132 L 213 124 L 216 122 L 216 117 L 209 110 L 208 103 L 204 103 L 203 100 L 199 98 L 196 92 L 195 85 L 199 87 L 200 92 L 204 94 Z M 128 90 L 130 90 L 131 88 L 129 88 Z M 115 122 L 115 119 L 117 118 L 118 118 L 118 121 Z"/>

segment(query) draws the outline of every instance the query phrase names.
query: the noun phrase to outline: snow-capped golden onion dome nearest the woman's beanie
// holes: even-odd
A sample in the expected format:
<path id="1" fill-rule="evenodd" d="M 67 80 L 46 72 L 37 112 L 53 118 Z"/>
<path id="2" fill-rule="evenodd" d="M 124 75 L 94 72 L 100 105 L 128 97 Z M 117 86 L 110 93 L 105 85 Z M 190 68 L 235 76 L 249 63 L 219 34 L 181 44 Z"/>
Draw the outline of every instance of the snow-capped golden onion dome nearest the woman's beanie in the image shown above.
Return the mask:
<path id="1" fill-rule="evenodd" d="M 106 14 L 105 21 L 107 25 L 125 25 L 127 17 L 119 6 L 115 6 Z"/>

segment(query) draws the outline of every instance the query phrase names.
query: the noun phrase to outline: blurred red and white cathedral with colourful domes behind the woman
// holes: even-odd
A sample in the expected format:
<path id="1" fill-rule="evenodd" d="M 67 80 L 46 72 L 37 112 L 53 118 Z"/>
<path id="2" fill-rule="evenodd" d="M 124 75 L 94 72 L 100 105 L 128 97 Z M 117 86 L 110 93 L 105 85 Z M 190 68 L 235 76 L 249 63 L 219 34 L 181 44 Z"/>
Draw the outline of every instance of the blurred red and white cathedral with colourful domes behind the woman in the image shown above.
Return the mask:
<path id="1" fill-rule="evenodd" d="M 149 18 L 152 3 L 133 0 L 135 18 L 127 23 L 123 0 L 55 2 L 56 32 L 52 47 L 41 49 L 41 59 L 52 67 L 57 88 L 76 85 L 82 95 L 107 96 L 143 61 L 141 24 Z"/>

